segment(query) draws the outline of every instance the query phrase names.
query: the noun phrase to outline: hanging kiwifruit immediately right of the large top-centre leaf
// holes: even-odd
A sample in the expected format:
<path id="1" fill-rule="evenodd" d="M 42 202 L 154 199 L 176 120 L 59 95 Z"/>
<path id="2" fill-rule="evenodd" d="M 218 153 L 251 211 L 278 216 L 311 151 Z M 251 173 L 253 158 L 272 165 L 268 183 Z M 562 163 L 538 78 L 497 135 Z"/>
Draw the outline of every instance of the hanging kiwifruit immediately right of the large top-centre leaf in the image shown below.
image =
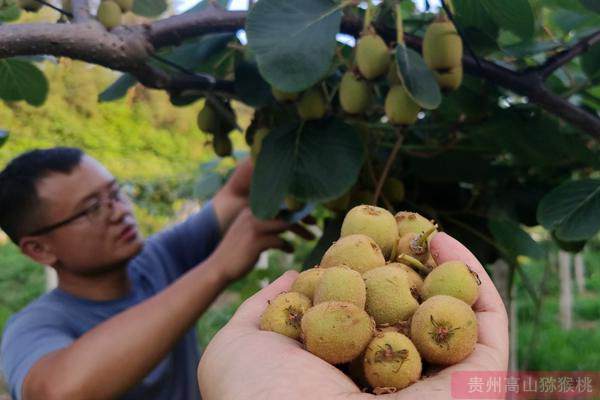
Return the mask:
<path id="1" fill-rule="evenodd" d="M 390 52 L 379 35 L 367 34 L 356 44 L 356 66 L 366 79 L 383 75 L 390 65 Z"/>

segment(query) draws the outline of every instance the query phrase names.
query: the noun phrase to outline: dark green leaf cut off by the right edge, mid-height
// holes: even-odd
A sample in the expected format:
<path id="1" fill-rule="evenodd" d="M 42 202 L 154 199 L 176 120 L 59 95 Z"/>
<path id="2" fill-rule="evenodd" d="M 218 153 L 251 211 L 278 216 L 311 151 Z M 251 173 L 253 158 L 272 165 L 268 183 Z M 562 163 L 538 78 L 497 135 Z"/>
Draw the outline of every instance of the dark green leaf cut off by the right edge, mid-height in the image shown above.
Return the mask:
<path id="1" fill-rule="evenodd" d="M 600 179 L 567 182 L 548 193 L 537 218 L 565 241 L 587 240 L 600 229 Z"/>

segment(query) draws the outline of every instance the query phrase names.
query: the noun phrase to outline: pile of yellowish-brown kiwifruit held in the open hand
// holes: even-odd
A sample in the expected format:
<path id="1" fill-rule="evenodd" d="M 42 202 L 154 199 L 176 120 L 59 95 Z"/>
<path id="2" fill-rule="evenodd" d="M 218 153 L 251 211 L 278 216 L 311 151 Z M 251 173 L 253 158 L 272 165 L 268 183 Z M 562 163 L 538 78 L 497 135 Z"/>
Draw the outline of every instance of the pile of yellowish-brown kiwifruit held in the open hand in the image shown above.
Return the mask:
<path id="1" fill-rule="evenodd" d="M 375 394 L 464 360 L 477 342 L 481 282 L 462 261 L 436 264 L 436 231 L 417 213 L 352 208 L 320 264 L 269 301 L 260 328 L 300 341 Z"/>

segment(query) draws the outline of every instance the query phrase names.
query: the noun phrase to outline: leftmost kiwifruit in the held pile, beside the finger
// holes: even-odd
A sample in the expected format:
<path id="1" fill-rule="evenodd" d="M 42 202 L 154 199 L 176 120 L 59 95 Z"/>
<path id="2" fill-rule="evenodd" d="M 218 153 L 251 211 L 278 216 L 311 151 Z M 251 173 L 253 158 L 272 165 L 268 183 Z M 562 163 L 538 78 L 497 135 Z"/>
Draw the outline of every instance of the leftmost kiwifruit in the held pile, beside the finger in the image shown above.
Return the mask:
<path id="1" fill-rule="evenodd" d="M 302 293 L 281 293 L 269 301 L 260 317 L 260 329 L 299 339 L 302 317 L 311 305 L 310 299 Z"/>

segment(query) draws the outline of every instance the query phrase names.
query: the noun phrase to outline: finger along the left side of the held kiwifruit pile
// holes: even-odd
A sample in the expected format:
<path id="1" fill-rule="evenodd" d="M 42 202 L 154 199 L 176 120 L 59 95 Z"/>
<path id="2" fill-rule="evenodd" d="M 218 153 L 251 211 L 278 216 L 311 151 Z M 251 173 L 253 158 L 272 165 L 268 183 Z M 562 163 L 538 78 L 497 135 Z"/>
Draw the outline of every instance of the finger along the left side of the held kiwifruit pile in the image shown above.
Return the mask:
<path id="1" fill-rule="evenodd" d="M 250 297 L 238 308 L 229 324 L 237 327 L 258 329 L 260 316 L 267 308 L 268 302 L 280 293 L 289 291 L 297 276 L 298 272 L 287 271 L 269 286 Z"/>

